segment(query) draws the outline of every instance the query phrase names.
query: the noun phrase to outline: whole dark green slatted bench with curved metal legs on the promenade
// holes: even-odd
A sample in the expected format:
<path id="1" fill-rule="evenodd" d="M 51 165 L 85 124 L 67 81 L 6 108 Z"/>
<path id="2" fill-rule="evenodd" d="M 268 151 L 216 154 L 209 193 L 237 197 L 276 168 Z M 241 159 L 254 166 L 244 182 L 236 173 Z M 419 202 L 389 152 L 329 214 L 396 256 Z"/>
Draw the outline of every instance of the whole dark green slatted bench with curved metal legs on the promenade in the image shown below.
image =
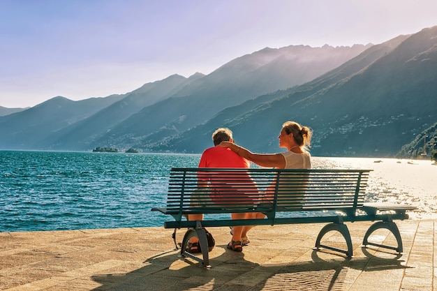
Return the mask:
<path id="1" fill-rule="evenodd" d="M 287 225 L 327 223 L 316 239 L 316 250 L 326 248 L 353 256 L 352 240 L 345 222 L 375 221 L 366 231 L 363 246 L 377 246 L 402 253 L 401 234 L 394 220 L 408 219 L 406 211 L 414 206 L 364 203 L 371 170 L 291 170 L 263 168 L 172 168 L 168 182 L 166 206 L 154 208 L 172 216 L 167 229 L 188 227 L 182 240 L 180 256 L 209 265 L 205 227 L 237 225 Z M 207 182 L 206 182 L 207 181 Z M 202 183 L 200 183 L 202 182 Z M 256 213 L 264 219 L 232 220 L 232 213 Z M 202 221 L 187 221 L 189 214 L 204 214 Z M 369 241 L 380 228 L 392 232 L 397 246 Z M 337 231 L 347 249 L 327 246 L 321 240 L 327 232 Z M 175 232 L 173 239 L 176 244 Z M 198 237 L 202 258 L 188 253 L 186 245 Z"/>

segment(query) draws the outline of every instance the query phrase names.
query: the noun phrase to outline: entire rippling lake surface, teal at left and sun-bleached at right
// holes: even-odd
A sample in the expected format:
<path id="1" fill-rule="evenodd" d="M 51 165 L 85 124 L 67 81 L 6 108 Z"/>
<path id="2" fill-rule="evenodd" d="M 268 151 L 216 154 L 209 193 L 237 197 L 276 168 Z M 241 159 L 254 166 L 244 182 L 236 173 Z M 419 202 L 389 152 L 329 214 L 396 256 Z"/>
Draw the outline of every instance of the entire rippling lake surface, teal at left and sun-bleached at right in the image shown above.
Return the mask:
<path id="1" fill-rule="evenodd" d="M 162 226 L 171 167 L 198 154 L 0 151 L 0 232 Z M 313 168 L 373 170 L 366 201 L 414 204 L 437 218 L 437 166 L 390 158 L 313 157 Z M 378 162 L 378 163 L 375 163 Z"/>

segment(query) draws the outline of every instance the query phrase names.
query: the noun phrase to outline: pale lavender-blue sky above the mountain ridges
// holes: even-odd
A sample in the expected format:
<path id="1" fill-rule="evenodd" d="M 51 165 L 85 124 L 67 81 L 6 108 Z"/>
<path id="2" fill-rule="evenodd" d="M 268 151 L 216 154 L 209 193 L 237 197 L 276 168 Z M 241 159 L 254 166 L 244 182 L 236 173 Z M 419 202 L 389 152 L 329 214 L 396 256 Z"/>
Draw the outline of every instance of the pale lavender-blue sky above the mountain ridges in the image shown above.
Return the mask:
<path id="1" fill-rule="evenodd" d="M 378 44 L 436 0 L 0 0 L 0 106 L 126 94 L 265 47 Z"/>

